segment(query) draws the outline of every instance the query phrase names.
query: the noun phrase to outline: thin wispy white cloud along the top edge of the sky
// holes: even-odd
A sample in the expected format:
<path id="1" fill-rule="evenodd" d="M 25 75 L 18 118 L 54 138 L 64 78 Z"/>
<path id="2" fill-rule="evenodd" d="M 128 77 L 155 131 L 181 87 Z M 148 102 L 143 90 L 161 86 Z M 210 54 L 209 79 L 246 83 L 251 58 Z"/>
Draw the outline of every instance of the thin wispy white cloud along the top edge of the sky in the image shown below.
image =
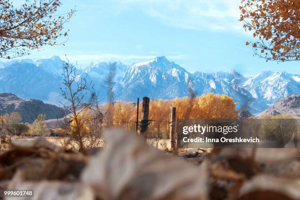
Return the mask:
<path id="1" fill-rule="evenodd" d="M 240 0 L 116 0 L 124 9 L 140 9 L 173 27 L 196 30 L 244 31 Z"/>

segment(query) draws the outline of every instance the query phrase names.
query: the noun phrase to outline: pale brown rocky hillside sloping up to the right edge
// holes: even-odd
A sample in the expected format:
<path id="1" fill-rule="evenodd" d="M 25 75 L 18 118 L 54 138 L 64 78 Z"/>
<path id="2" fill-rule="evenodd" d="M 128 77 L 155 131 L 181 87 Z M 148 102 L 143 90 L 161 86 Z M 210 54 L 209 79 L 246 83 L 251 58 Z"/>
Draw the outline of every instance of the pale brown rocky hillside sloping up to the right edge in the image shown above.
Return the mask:
<path id="1" fill-rule="evenodd" d="M 300 95 L 290 95 L 282 100 L 279 100 L 260 115 L 279 115 L 290 114 L 300 118 Z"/>

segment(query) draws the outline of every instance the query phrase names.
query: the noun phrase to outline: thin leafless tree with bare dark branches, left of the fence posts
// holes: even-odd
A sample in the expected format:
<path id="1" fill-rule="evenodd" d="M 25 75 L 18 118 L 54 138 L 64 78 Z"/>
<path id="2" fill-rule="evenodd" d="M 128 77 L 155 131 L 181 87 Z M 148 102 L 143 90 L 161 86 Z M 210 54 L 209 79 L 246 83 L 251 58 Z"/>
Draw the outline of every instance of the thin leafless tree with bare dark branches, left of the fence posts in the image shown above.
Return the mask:
<path id="1" fill-rule="evenodd" d="M 98 94 L 94 90 L 92 82 L 87 77 L 82 77 L 81 71 L 67 62 L 62 66 L 63 86 L 60 88 L 63 98 L 69 102 L 71 114 L 66 121 L 71 125 L 71 138 L 78 144 L 79 151 L 84 152 L 84 137 L 86 137 L 85 125 L 91 120 L 91 116 L 84 116 L 85 112 L 98 109 Z M 99 117 L 99 115 L 96 115 Z"/>

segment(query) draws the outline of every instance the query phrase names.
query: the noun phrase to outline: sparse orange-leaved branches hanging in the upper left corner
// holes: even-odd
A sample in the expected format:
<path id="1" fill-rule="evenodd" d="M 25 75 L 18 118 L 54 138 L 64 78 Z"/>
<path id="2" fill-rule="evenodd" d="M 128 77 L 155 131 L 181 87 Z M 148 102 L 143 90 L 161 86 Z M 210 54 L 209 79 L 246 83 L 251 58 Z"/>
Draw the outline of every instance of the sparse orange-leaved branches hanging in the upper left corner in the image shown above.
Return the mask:
<path id="1" fill-rule="evenodd" d="M 12 2 L 0 0 L 0 57 L 10 59 L 44 45 L 57 45 L 58 37 L 68 35 L 64 24 L 75 10 L 55 15 L 60 0 L 25 0 L 20 8 Z"/>

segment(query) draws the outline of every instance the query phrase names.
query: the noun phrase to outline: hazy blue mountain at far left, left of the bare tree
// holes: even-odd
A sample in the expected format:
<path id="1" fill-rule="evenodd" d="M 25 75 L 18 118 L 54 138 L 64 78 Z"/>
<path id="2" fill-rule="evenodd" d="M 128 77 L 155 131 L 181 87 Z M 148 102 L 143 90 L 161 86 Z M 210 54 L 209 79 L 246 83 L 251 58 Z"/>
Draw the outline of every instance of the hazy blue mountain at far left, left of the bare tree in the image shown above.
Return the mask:
<path id="1" fill-rule="evenodd" d="M 54 99 L 60 93 L 61 82 L 61 75 L 29 62 L 11 63 L 0 69 L 0 93 L 13 93 L 24 99 L 58 103 Z"/>

